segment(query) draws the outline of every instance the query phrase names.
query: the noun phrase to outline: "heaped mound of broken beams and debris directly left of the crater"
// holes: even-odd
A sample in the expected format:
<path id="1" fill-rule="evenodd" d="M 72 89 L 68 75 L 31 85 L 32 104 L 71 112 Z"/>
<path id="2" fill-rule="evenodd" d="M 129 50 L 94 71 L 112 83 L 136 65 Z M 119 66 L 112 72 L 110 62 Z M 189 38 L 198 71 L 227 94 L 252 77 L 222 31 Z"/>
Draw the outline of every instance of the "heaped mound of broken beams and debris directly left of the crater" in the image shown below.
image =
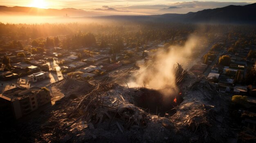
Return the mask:
<path id="1" fill-rule="evenodd" d="M 117 125 L 120 132 L 145 126 L 150 117 L 144 110 L 129 102 L 129 90 L 113 81 L 99 83 L 92 92 L 85 95 L 69 116 L 80 116 L 78 119 L 101 128 Z"/>

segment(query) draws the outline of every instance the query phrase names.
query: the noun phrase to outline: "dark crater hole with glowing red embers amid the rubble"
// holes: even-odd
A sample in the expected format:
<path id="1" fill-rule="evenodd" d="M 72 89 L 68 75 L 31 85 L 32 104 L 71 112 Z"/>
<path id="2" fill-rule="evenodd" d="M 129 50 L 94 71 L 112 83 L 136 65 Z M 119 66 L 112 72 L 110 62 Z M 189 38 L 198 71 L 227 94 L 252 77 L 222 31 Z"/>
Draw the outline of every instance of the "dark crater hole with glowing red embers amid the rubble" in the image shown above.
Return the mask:
<path id="1" fill-rule="evenodd" d="M 140 88 L 136 95 L 136 106 L 144 108 L 150 114 L 159 114 L 159 116 L 175 114 L 174 108 L 183 101 L 181 93 L 166 96 L 158 90 L 147 88 Z"/>

